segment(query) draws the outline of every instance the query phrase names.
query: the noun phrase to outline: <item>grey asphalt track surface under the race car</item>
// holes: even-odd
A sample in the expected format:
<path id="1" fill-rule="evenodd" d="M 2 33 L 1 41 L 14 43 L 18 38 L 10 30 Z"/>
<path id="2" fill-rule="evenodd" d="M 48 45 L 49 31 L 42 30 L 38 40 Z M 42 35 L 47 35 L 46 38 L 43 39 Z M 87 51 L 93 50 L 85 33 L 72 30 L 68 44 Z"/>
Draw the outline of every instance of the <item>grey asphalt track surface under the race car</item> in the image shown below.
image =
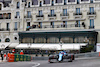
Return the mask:
<path id="1" fill-rule="evenodd" d="M 48 63 L 47 60 L 0 63 L 0 67 L 100 67 L 100 58 L 74 60 L 73 62 Z"/>

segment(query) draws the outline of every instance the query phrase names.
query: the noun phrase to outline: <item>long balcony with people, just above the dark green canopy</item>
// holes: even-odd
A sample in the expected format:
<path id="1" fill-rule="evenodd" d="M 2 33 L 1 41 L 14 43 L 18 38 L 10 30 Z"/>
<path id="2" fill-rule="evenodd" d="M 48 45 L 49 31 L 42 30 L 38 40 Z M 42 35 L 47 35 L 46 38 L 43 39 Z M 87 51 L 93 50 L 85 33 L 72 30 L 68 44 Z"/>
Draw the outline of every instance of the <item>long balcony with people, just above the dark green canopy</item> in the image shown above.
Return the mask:
<path id="1" fill-rule="evenodd" d="M 69 25 L 42 25 L 39 27 L 38 25 L 30 26 L 28 30 L 70 30 L 70 29 L 84 29 L 84 26 L 82 24 L 75 25 L 75 24 L 69 24 Z"/>

